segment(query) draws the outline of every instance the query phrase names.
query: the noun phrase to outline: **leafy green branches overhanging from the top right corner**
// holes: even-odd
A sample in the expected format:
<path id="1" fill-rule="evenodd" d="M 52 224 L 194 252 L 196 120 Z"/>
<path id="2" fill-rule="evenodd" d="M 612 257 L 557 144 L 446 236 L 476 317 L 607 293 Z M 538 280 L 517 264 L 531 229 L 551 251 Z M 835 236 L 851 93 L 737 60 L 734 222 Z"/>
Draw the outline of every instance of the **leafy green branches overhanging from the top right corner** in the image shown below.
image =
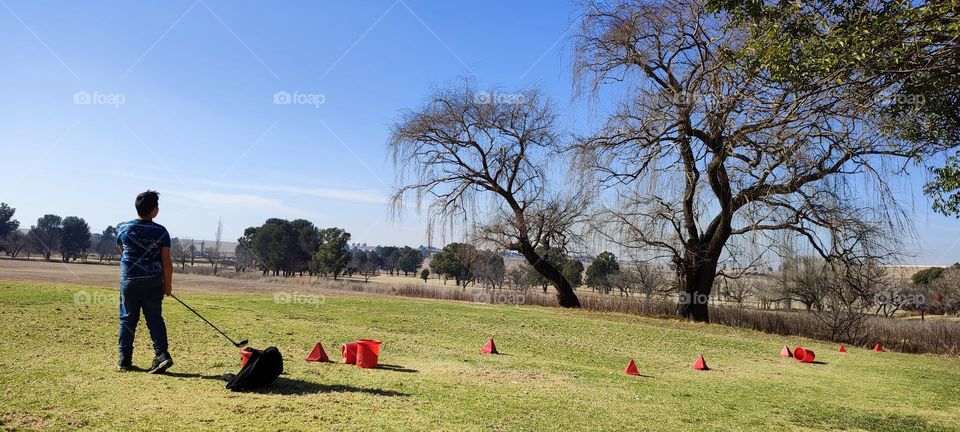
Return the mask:
<path id="1" fill-rule="evenodd" d="M 879 132 L 929 151 L 953 149 L 924 192 L 960 216 L 960 26 L 956 0 L 709 0 L 750 29 L 748 61 L 791 83 L 852 83 L 883 119 Z M 918 158 L 918 160 L 925 160 Z"/>

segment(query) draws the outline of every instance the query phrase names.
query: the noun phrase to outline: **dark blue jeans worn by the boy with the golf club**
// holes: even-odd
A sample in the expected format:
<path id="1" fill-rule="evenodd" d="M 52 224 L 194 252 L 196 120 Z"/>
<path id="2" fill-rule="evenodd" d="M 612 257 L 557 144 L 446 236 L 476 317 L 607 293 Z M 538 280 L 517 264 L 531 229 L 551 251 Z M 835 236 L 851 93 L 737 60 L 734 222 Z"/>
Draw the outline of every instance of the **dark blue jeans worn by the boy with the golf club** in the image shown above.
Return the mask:
<path id="1" fill-rule="evenodd" d="M 163 322 L 163 278 L 120 281 L 120 358 L 133 359 L 133 337 L 140 321 L 140 309 L 147 319 L 153 351 L 167 351 L 167 325 Z"/>

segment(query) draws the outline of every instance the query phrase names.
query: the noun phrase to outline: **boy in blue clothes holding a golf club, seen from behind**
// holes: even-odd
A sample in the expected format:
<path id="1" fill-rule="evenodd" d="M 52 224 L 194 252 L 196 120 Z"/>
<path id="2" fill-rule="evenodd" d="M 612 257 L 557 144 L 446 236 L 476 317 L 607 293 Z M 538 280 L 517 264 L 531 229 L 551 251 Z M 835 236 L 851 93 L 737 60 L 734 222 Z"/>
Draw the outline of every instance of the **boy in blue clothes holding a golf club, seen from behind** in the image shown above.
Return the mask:
<path id="1" fill-rule="evenodd" d="M 170 234 L 153 221 L 160 212 L 160 194 L 148 190 L 137 195 L 140 216 L 117 227 L 120 248 L 120 360 L 117 370 L 132 369 L 133 337 L 140 310 L 147 319 L 156 357 L 149 371 L 164 373 L 173 366 L 167 352 L 167 326 L 161 315 L 163 296 L 173 292 L 173 265 L 170 262 Z"/>

